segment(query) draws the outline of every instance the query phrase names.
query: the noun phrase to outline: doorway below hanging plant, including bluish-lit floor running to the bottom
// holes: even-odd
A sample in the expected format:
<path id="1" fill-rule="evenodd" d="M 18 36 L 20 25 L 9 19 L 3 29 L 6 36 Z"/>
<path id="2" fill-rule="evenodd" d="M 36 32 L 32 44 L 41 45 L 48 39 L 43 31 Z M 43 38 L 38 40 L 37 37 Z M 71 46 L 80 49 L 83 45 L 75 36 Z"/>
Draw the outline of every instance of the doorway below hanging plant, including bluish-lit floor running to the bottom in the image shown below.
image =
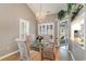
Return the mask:
<path id="1" fill-rule="evenodd" d="M 61 61 L 67 61 L 69 21 L 58 22 L 58 47 Z"/>

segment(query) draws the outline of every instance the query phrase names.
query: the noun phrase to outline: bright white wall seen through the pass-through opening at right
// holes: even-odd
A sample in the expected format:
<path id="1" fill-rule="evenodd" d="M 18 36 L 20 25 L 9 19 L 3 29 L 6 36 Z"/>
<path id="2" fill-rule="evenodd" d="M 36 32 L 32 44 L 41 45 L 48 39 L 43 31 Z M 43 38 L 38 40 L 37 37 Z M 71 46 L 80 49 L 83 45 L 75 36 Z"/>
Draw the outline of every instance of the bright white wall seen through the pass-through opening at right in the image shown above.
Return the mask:
<path id="1" fill-rule="evenodd" d="M 71 40 L 74 41 L 74 30 L 81 30 L 81 25 L 84 24 L 85 13 L 77 16 L 71 24 Z"/>

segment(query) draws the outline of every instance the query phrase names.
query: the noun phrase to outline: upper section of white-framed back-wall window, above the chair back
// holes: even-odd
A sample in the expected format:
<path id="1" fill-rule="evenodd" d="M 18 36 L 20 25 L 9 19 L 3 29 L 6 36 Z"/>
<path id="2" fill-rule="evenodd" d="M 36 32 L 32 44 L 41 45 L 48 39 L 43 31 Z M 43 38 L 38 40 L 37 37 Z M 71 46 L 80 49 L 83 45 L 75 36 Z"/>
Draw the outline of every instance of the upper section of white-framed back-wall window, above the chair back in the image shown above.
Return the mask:
<path id="1" fill-rule="evenodd" d="M 44 23 L 38 25 L 39 35 L 53 35 L 53 23 Z"/>

